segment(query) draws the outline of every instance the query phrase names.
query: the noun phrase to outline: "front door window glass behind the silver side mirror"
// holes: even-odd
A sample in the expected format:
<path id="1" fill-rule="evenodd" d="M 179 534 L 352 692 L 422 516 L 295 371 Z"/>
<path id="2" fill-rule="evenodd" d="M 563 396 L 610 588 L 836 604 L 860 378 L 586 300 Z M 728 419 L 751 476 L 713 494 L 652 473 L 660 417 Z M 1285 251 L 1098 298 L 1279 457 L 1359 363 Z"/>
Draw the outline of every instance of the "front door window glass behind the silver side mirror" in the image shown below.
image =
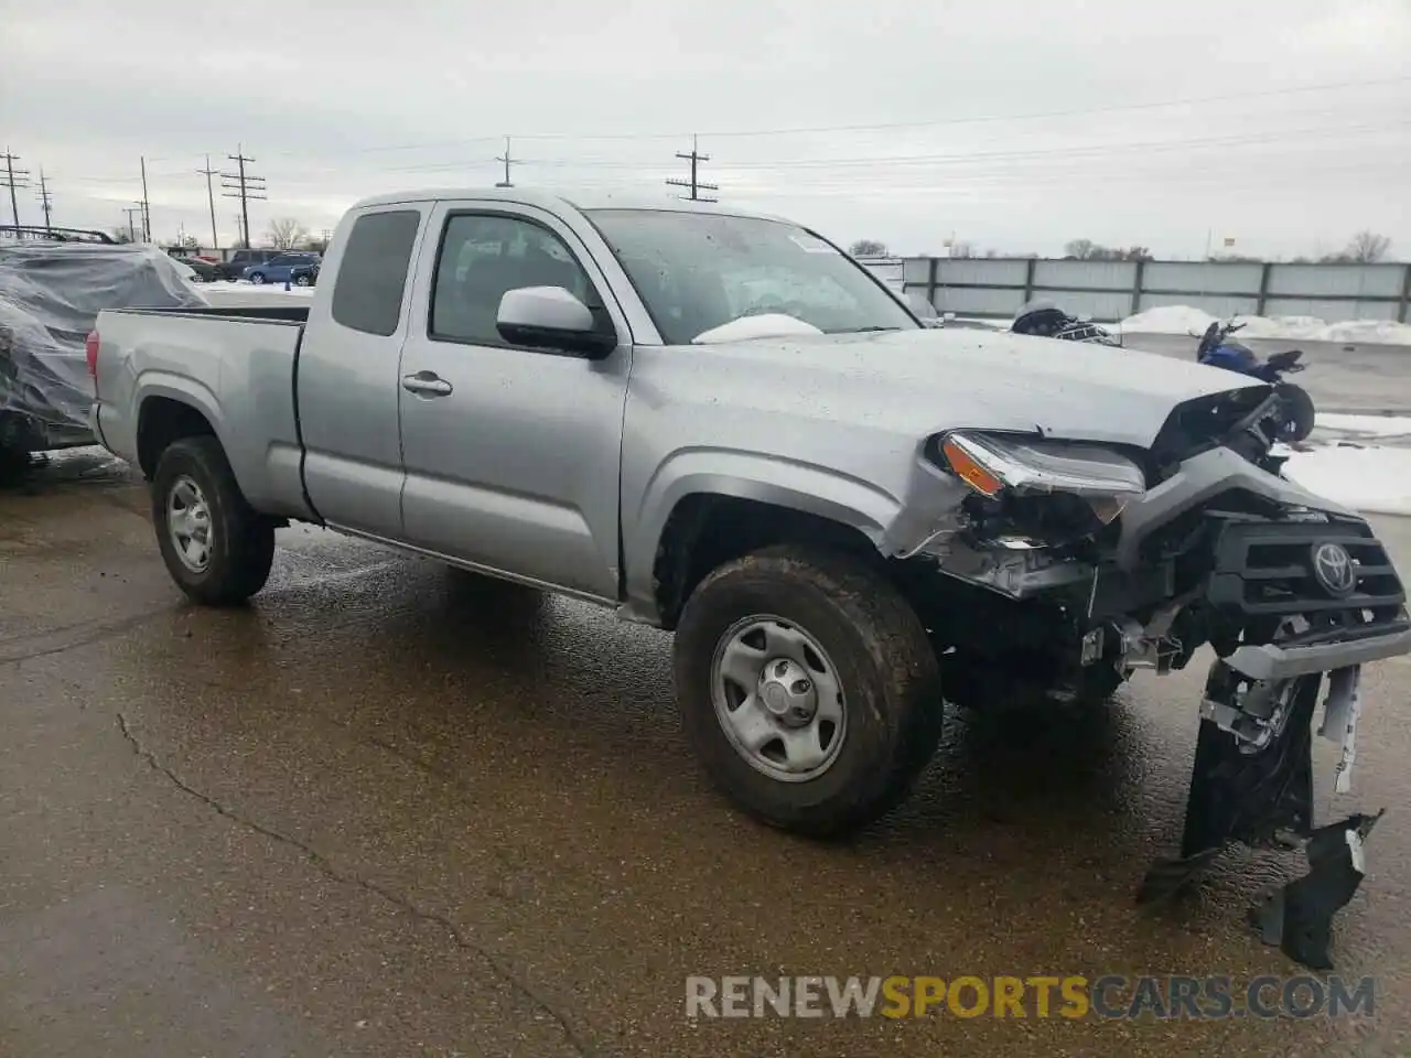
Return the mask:
<path id="1" fill-rule="evenodd" d="M 587 274 L 549 229 L 502 214 L 453 216 L 436 261 L 432 337 L 507 344 L 495 327 L 499 299 L 522 286 L 563 286 L 588 308 L 598 303 Z"/>

